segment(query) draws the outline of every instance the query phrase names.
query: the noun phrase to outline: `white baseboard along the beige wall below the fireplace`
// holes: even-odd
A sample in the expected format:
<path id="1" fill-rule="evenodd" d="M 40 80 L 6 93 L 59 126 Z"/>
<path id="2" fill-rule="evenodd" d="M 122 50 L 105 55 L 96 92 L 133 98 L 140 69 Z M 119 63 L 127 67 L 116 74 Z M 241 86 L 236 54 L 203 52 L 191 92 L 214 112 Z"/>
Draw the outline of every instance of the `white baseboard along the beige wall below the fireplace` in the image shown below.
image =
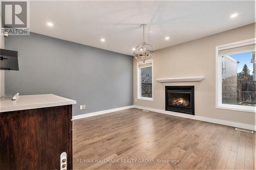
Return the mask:
<path id="1" fill-rule="evenodd" d="M 197 116 L 197 115 L 189 115 L 189 114 L 177 113 L 177 112 L 166 111 L 166 110 L 161 110 L 161 109 L 154 109 L 154 108 L 148 108 L 148 107 L 142 107 L 142 106 L 134 106 L 134 108 L 142 109 L 142 110 L 150 110 L 150 111 L 153 111 L 153 112 L 169 114 L 169 115 L 173 115 L 173 116 L 191 118 L 191 119 L 195 119 L 195 120 L 201 120 L 201 121 L 204 121 L 204 122 L 209 122 L 209 123 L 214 123 L 214 124 L 220 124 L 220 125 L 226 125 L 226 126 L 231 126 L 231 127 L 256 131 L 256 126 L 254 126 L 254 125 L 241 124 L 241 123 L 237 123 L 237 122 L 229 122 L 227 120 L 221 120 L 221 119 L 209 118 L 209 117 L 203 117 L 203 116 Z"/>

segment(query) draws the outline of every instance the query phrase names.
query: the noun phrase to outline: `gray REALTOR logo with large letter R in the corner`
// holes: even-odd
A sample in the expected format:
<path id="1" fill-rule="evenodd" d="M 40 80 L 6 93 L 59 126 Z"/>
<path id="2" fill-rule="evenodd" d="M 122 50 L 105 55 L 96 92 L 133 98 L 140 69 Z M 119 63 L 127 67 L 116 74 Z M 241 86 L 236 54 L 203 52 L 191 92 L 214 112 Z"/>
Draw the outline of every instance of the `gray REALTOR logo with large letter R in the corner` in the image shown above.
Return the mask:
<path id="1" fill-rule="evenodd" d="M 2 33 L 29 35 L 28 1 L 2 1 Z"/>

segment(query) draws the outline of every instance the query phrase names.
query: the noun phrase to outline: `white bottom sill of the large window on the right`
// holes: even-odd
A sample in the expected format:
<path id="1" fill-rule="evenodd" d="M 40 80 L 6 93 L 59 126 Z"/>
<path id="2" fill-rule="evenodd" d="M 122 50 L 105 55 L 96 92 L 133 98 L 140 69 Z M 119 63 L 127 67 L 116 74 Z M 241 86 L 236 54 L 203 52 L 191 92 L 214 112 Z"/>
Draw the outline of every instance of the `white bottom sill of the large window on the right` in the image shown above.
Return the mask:
<path id="1" fill-rule="evenodd" d="M 220 104 L 220 105 L 216 106 L 216 108 L 256 113 L 256 107 L 253 107 L 253 106 L 238 106 L 238 105 Z"/>

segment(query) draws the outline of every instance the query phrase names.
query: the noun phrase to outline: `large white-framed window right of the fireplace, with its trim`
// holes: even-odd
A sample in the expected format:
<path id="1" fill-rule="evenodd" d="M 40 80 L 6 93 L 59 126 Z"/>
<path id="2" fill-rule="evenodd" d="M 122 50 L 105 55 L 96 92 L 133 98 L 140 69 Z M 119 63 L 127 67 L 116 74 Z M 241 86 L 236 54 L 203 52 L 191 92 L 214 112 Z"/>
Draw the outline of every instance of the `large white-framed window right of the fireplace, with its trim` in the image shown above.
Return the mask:
<path id="1" fill-rule="evenodd" d="M 256 113 L 255 47 L 255 39 L 216 47 L 217 108 Z"/>

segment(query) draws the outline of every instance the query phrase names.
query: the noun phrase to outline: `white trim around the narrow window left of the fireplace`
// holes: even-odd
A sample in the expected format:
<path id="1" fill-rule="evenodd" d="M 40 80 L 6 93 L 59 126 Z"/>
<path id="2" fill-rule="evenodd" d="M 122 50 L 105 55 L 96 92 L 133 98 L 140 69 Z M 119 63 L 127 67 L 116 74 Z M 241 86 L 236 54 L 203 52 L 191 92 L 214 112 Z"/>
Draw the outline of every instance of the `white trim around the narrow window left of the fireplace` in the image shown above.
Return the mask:
<path id="1" fill-rule="evenodd" d="M 143 64 L 152 64 L 152 98 L 145 98 L 141 96 L 141 85 L 140 85 L 140 78 L 141 78 L 141 74 L 140 74 L 140 65 Z M 143 67 L 142 67 L 143 68 Z M 137 100 L 143 100 L 143 101 L 154 101 L 154 67 L 153 67 L 153 60 L 147 60 L 145 61 L 145 63 L 143 62 L 137 62 Z"/>

